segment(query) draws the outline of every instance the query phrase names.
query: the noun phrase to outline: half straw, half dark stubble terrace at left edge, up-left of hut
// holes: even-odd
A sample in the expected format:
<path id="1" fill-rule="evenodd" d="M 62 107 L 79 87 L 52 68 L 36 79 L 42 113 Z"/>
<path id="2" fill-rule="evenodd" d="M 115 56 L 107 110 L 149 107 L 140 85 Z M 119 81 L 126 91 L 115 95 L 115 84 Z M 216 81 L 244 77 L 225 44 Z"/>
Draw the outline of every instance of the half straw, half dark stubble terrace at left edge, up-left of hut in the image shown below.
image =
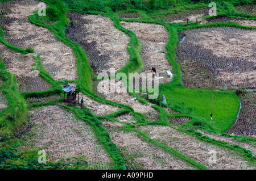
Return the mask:
<path id="1" fill-rule="evenodd" d="M 32 70 L 36 65 L 33 59 L 33 56 L 36 56 L 35 53 L 16 53 L 0 44 L 0 56 L 6 70 L 16 75 L 20 92 L 43 91 L 52 88 L 48 82 L 39 77 L 38 70 Z"/>

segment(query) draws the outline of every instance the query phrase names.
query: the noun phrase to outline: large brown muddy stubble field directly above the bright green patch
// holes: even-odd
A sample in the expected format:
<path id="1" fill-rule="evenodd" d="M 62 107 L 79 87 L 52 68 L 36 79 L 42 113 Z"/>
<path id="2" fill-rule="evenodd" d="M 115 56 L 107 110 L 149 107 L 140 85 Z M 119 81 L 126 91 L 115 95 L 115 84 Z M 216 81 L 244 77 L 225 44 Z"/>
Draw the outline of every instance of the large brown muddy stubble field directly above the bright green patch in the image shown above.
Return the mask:
<path id="1" fill-rule="evenodd" d="M 180 33 L 177 62 L 184 86 L 255 89 L 255 30 L 199 28 Z"/>

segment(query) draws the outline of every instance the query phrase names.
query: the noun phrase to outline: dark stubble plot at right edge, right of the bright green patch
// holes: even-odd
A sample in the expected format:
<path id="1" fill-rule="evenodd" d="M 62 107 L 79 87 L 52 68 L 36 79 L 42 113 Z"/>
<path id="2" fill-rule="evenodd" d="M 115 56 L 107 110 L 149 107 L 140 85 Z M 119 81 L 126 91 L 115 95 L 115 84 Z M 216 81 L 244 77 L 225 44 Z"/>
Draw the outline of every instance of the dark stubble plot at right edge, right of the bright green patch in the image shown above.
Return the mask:
<path id="1" fill-rule="evenodd" d="M 254 74 L 255 76 L 255 74 Z M 241 112 L 236 122 L 226 131 L 238 136 L 256 136 L 256 92 L 245 92 L 239 96 Z"/>

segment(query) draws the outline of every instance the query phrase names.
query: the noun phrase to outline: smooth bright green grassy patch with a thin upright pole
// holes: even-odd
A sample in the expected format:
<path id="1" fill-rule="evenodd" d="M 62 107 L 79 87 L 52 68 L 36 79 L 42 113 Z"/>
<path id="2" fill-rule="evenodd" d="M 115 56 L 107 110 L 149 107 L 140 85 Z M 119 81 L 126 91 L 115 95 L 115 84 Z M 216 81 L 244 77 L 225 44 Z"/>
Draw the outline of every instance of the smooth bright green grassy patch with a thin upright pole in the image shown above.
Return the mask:
<path id="1" fill-rule="evenodd" d="M 170 106 L 179 108 L 181 112 L 191 114 L 191 116 L 204 120 L 210 125 L 212 125 L 210 114 L 213 107 L 214 129 L 219 132 L 224 132 L 232 125 L 236 120 L 240 106 L 240 100 L 235 92 L 166 86 L 162 94 L 166 96 Z"/>

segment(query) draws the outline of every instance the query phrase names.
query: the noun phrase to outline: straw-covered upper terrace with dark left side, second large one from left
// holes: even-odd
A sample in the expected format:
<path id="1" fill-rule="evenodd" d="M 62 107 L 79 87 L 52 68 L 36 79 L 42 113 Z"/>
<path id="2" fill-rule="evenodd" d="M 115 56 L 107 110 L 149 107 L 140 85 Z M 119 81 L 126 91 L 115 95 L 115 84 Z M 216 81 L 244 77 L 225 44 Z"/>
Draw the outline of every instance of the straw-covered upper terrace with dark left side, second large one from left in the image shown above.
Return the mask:
<path id="1" fill-rule="evenodd" d="M 116 72 L 128 63 L 130 37 L 115 28 L 110 18 L 78 13 L 67 16 L 72 23 L 66 35 L 81 45 L 95 74 L 109 74 L 112 68 Z"/>

